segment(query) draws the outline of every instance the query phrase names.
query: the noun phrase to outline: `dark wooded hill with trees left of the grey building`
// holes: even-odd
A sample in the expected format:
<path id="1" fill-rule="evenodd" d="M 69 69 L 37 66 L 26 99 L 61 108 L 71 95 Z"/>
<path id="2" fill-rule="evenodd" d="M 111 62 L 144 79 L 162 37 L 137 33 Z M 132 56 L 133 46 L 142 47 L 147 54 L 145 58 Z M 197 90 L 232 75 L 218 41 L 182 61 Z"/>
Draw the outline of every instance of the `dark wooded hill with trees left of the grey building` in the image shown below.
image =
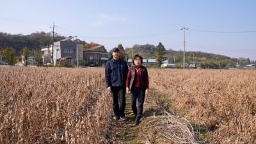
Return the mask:
<path id="1" fill-rule="evenodd" d="M 54 34 L 53 42 L 57 42 L 67 38 Z M 83 40 L 73 40 L 76 44 L 85 45 Z M 28 56 L 35 57 L 36 65 L 42 65 L 42 47 L 50 47 L 52 45 L 52 33 L 31 33 L 30 35 L 11 35 L 10 33 L 0 33 L 0 61 L 6 61 L 8 65 L 15 65 L 18 59 L 24 58 L 25 65 L 28 65 Z"/>

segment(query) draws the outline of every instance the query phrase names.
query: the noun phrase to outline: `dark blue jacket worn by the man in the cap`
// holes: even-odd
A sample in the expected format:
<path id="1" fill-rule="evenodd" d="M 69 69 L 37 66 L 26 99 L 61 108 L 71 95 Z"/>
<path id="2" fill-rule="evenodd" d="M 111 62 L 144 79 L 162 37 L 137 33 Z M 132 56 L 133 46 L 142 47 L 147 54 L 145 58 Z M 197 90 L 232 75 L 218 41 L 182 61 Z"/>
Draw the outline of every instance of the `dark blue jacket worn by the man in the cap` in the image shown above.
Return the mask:
<path id="1" fill-rule="evenodd" d="M 128 73 L 128 65 L 122 59 L 114 60 L 113 58 L 106 63 L 105 79 L 106 87 L 125 86 Z"/>

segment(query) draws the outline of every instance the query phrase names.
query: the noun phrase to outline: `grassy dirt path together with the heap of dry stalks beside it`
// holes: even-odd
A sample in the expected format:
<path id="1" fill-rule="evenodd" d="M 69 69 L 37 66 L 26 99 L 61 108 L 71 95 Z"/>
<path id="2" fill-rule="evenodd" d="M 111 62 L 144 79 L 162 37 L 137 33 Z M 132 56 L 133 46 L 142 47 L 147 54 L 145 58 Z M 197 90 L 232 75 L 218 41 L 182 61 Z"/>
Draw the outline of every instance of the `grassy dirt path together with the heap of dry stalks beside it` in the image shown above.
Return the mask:
<path id="1" fill-rule="evenodd" d="M 110 119 L 111 131 L 108 143 L 122 144 L 198 144 L 193 127 L 186 118 L 170 113 L 171 101 L 163 93 L 151 89 L 145 99 L 139 125 L 134 124 L 130 95 L 126 95 L 127 120 Z M 175 142 L 173 142 L 175 141 Z"/>

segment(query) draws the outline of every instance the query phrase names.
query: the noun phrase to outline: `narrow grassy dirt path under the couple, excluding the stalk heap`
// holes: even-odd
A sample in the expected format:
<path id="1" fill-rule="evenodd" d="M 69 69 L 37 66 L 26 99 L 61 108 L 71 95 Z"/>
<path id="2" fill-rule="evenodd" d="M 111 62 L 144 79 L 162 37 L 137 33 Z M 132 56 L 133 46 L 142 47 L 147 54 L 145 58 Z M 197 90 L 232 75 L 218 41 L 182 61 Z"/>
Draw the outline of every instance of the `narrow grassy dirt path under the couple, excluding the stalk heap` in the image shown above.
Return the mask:
<path id="1" fill-rule="evenodd" d="M 111 129 L 111 143 L 168 143 L 172 141 L 167 140 L 159 134 L 152 123 L 154 123 L 159 115 L 162 115 L 163 110 L 157 105 L 157 93 L 150 92 L 150 95 L 145 99 L 143 107 L 143 116 L 139 125 L 134 124 L 134 115 L 131 109 L 130 95 L 126 95 L 125 116 L 127 120 L 111 120 L 113 129 Z"/>

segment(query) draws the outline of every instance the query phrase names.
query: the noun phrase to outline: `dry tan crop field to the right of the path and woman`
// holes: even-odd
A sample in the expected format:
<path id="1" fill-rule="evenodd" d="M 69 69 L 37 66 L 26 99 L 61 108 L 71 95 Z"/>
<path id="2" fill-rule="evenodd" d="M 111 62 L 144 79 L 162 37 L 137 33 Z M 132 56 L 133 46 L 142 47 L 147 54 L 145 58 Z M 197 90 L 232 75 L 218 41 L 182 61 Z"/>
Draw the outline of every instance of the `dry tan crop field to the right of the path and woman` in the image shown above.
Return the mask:
<path id="1" fill-rule="evenodd" d="M 150 87 L 211 143 L 256 143 L 256 70 L 149 69 Z"/>

